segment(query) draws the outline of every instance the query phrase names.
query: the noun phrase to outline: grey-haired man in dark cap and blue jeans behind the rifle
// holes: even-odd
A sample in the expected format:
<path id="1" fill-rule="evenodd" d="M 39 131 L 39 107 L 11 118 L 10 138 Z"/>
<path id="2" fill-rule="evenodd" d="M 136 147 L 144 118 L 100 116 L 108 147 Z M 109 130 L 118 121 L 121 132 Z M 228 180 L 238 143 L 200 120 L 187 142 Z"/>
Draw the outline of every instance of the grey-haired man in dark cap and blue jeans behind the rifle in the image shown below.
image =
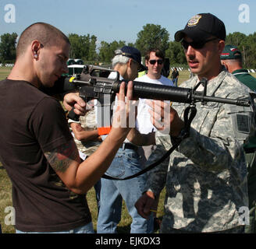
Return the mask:
<path id="1" fill-rule="evenodd" d="M 141 55 L 135 47 L 124 46 L 115 51 L 112 58 L 113 70 L 119 72 L 120 79 L 134 80 L 140 70 L 144 71 L 141 64 Z M 108 78 L 116 78 L 116 72 L 112 72 Z M 105 140 L 105 136 L 101 136 Z M 116 153 L 115 159 L 106 171 L 111 177 L 124 178 L 136 174 L 142 169 L 138 147 L 126 139 Z M 117 233 L 117 225 L 121 220 L 122 202 L 126 207 L 133 222 L 130 233 L 152 233 L 153 217 L 144 219 L 137 213 L 134 204 L 142 194 L 146 178 L 145 175 L 126 181 L 115 181 L 101 178 L 101 208 L 98 212 L 98 233 Z"/>

